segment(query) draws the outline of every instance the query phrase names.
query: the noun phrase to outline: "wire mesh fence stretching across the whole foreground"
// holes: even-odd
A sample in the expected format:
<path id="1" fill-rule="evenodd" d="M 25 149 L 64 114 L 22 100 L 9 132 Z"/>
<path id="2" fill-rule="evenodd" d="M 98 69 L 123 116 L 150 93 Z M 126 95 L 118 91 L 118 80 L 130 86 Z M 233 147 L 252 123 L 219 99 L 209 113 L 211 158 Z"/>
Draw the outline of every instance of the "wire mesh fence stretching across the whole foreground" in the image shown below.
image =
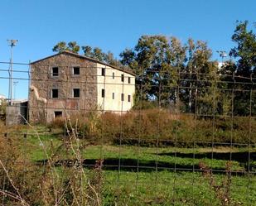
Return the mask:
<path id="1" fill-rule="evenodd" d="M 256 79 L 152 73 L 14 63 L 2 205 L 256 205 Z"/>

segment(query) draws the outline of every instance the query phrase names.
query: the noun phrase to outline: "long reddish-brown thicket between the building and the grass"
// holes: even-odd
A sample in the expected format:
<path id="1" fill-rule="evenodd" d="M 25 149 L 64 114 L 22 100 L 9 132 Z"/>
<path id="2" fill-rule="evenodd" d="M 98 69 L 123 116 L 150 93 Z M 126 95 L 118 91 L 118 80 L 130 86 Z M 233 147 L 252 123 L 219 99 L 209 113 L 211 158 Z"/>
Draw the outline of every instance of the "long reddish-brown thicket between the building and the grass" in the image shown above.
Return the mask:
<path id="1" fill-rule="evenodd" d="M 249 124 L 249 121 L 251 123 Z M 141 146 L 211 146 L 215 143 L 256 143 L 253 118 L 195 118 L 191 114 L 173 114 L 166 109 L 133 110 L 129 113 L 97 113 L 70 117 L 70 124 L 56 119 L 51 127 L 70 131 L 99 143 Z M 66 127 L 66 126 L 67 127 Z M 251 125 L 251 127 L 249 127 Z M 250 135 L 249 130 L 251 129 Z M 249 138 L 250 137 L 250 138 Z"/>

